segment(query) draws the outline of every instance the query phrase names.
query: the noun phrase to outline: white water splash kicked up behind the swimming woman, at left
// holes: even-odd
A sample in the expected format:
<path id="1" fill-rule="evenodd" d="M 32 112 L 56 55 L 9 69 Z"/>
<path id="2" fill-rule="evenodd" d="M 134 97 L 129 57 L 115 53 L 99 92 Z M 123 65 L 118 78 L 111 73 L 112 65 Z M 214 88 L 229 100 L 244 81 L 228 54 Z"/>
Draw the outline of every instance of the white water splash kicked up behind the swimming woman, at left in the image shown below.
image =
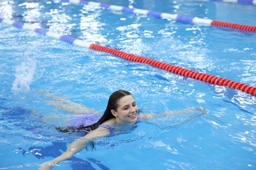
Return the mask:
<path id="1" fill-rule="evenodd" d="M 30 84 L 33 82 L 33 76 L 37 68 L 37 60 L 30 58 L 28 54 L 21 59 L 20 65 L 16 66 L 15 80 L 12 83 L 12 91 L 26 92 L 30 90 Z"/>

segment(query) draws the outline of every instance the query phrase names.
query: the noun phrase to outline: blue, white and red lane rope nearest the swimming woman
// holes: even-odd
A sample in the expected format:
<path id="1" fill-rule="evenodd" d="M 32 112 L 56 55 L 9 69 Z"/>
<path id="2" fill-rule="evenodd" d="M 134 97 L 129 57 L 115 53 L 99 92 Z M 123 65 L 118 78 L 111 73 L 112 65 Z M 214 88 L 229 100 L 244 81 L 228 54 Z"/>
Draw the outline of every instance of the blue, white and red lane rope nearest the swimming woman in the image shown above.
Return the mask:
<path id="1" fill-rule="evenodd" d="M 208 82 L 209 84 L 215 84 L 219 86 L 226 86 L 229 88 L 234 88 L 236 90 L 240 90 L 245 93 L 249 93 L 251 95 L 256 96 L 256 87 L 249 86 L 247 84 L 243 84 L 240 82 L 235 82 L 232 80 L 228 80 L 225 78 L 221 78 L 218 76 L 212 76 L 207 75 L 205 73 L 200 73 L 196 71 L 192 71 L 190 69 L 184 69 L 183 67 L 171 65 L 169 63 L 164 63 L 161 61 L 157 61 L 154 59 L 145 58 L 142 56 L 137 56 L 135 54 L 129 54 L 126 52 L 122 52 L 119 50 L 115 50 L 114 48 L 108 48 L 106 46 L 100 46 L 98 44 L 93 44 L 92 42 L 86 42 L 83 40 L 75 39 L 74 37 L 70 37 L 68 35 L 61 35 L 59 33 L 54 33 L 52 31 L 47 31 L 45 29 L 40 29 L 33 27 L 33 25 L 30 24 L 22 24 L 20 22 L 15 22 L 13 20 L 3 19 L 0 18 L 0 22 L 3 22 L 5 24 L 13 25 L 18 28 L 22 29 L 28 29 L 31 31 L 35 31 L 36 33 L 40 33 L 42 35 L 46 35 L 47 37 L 53 37 L 54 39 L 58 39 L 60 41 L 64 42 L 70 42 L 71 44 L 75 44 L 77 46 L 90 48 L 93 50 L 97 50 L 100 52 L 106 52 L 108 54 L 113 54 L 114 56 L 117 56 L 119 58 L 127 59 L 129 61 L 138 62 L 138 63 L 146 63 L 148 65 L 152 65 L 153 67 L 157 67 L 159 69 L 163 69 L 165 71 L 169 71 L 171 73 L 175 73 L 177 75 L 181 76 L 187 76 L 190 78 L 194 78 L 196 80 L 201 80 L 203 82 Z"/>

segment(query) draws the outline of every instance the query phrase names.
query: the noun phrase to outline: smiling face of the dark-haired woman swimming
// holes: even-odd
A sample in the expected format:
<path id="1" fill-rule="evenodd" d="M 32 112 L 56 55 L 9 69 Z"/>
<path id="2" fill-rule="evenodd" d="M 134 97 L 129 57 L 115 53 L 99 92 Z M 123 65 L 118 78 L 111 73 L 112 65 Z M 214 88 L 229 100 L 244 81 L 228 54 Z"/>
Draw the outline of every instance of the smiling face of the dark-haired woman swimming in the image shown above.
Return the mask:
<path id="1" fill-rule="evenodd" d="M 117 110 L 112 110 L 116 116 L 117 123 L 134 123 L 138 119 L 139 107 L 136 105 L 132 95 L 125 95 L 117 102 Z"/>

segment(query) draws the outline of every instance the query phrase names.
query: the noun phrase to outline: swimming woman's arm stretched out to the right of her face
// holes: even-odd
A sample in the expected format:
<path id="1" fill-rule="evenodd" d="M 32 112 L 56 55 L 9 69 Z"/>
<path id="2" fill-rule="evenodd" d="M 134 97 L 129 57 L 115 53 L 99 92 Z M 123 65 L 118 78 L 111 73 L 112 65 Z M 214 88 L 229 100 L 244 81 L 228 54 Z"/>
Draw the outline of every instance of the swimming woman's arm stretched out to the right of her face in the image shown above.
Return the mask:
<path id="1" fill-rule="evenodd" d="M 167 111 L 167 112 L 163 112 L 161 114 L 141 114 L 140 117 L 144 118 L 144 119 L 148 119 L 148 118 L 154 118 L 154 117 L 160 117 L 160 116 L 168 116 L 168 115 L 173 115 L 173 114 L 182 114 L 182 113 L 187 113 L 187 112 L 191 112 L 192 110 L 198 110 L 200 112 L 202 112 L 202 114 L 206 113 L 206 110 L 200 108 L 200 107 L 191 107 L 191 108 L 187 108 L 187 109 L 183 109 L 183 110 L 177 110 L 177 111 Z"/>

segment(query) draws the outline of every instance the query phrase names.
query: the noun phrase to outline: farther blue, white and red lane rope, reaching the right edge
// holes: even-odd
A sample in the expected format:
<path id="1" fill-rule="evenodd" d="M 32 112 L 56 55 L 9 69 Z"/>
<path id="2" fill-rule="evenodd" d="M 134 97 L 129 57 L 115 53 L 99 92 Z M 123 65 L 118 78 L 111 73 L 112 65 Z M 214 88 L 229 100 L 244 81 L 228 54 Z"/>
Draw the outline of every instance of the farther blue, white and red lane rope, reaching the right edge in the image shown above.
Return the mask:
<path id="1" fill-rule="evenodd" d="M 230 22 L 221 22 L 209 19 L 203 19 L 198 17 L 191 17 L 191 16 L 179 16 L 178 14 L 169 14 L 165 12 L 154 12 L 150 10 L 143 10 L 143 9 L 134 9 L 129 7 L 121 7 L 117 5 L 108 5 L 104 3 L 96 3 L 93 1 L 83 1 L 83 0 L 62 0 L 66 3 L 73 3 L 76 5 L 89 5 L 93 7 L 103 7 L 104 9 L 110 10 L 119 10 L 122 12 L 129 12 L 133 14 L 142 14 L 146 16 L 154 16 L 155 18 L 160 18 L 163 20 L 174 20 L 176 22 L 182 22 L 184 24 L 197 24 L 203 26 L 217 26 L 217 27 L 230 27 L 234 29 L 241 29 L 245 31 L 256 31 L 256 26 L 251 25 L 242 25 L 242 24 L 235 24 Z M 227 1 L 227 0 L 226 0 Z"/>

